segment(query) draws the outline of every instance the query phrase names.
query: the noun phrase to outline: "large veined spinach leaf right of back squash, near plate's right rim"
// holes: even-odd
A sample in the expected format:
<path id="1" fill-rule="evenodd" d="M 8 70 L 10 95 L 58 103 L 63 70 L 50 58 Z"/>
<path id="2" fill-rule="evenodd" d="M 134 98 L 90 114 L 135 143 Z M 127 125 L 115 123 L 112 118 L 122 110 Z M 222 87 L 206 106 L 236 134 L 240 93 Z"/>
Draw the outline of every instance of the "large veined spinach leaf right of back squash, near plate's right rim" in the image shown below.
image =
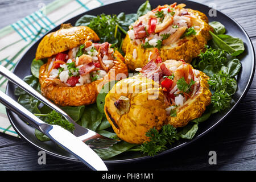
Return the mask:
<path id="1" fill-rule="evenodd" d="M 215 35 L 212 31 L 209 32 L 218 48 L 228 51 L 230 55 L 238 56 L 245 50 L 242 39 L 224 34 Z"/>

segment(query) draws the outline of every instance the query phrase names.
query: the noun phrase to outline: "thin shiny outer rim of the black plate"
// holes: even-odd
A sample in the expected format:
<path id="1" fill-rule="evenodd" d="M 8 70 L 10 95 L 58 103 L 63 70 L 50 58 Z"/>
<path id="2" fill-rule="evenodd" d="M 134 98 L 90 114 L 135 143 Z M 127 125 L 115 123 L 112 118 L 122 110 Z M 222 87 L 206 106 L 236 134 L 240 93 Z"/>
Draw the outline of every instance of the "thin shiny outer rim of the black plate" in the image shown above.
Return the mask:
<path id="1" fill-rule="evenodd" d="M 195 4 L 199 4 L 199 5 L 202 5 L 202 6 L 207 6 L 203 3 L 200 3 L 200 2 L 195 2 L 195 1 L 190 1 L 190 0 L 187 0 L 188 2 L 190 3 L 195 3 Z M 100 7 L 105 7 L 105 6 L 108 6 L 108 5 L 113 5 L 113 4 L 117 4 L 117 3 L 122 3 L 122 2 L 127 2 L 126 0 L 121 0 L 121 1 L 118 1 L 118 2 L 113 2 L 113 3 L 108 3 L 106 5 L 103 5 L 103 6 L 100 6 Z M 100 7 L 96 7 L 94 9 L 91 9 L 91 10 L 95 10 L 95 9 L 98 9 Z M 88 10 L 88 11 L 91 11 L 91 10 Z M 81 14 L 86 14 L 88 11 L 85 11 L 84 13 L 81 13 Z M 146 159 L 151 159 L 151 158 L 158 158 L 160 156 L 163 156 L 163 155 L 166 155 L 170 152 L 174 152 L 176 150 L 179 150 L 180 148 L 182 147 L 185 147 L 185 146 L 188 146 L 189 144 L 197 141 L 198 139 L 200 139 L 201 137 L 203 137 L 204 135 L 207 135 L 209 134 L 210 131 L 212 131 L 213 129 L 216 129 L 216 127 L 222 122 L 224 121 L 224 119 L 226 117 L 228 117 L 229 114 L 231 114 L 233 112 L 234 109 L 236 109 L 237 105 L 240 104 L 240 102 L 243 100 L 243 98 L 246 96 L 247 92 L 249 91 L 250 89 L 250 86 L 251 86 L 251 83 L 253 81 L 253 78 L 254 78 L 254 73 L 255 73 L 255 50 L 254 50 L 254 46 L 253 46 L 253 43 L 251 42 L 251 39 L 250 39 L 250 36 L 247 34 L 247 32 L 245 31 L 245 29 L 240 25 L 240 23 L 238 23 L 235 19 L 233 19 L 232 17 L 230 17 L 228 14 L 225 14 L 225 13 L 222 13 L 222 11 L 220 10 L 216 10 L 217 13 L 221 13 L 222 15 L 224 16 L 227 16 L 229 19 L 231 19 L 234 23 L 237 24 L 238 27 L 241 28 L 243 34 L 246 36 L 246 38 L 249 40 L 249 43 L 250 43 L 250 48 L 251 48 L 251 51 L 253 53 L 253 60 L 252 60 L 252 63 L 253 63 L 253 67 L 251 67 L 251 74 L 250 74 L 250 79 L 249 81 L 247 82 L 246 84 L 246 87 L 245 87 L 245 90 L 243 90 L 242 94 L 241 94 L 241 97 L 238 99 L 238 101 L 232 106 L 230 107 L 230 109 L 227 111 L 227 113 L 221 118 L 219 119 L 216 123 L 214 123 L 213 126 L 209 127 L 207 130 L 205 130 L 203 133 L 201 133 L 200 135 L 197 135 L 195 138 L 193 138 L 192 140 L 189 140 L 188 142 L 184 142 L 176 147 L 172 147 L 172 148 L 169 148 L 168 150 L 166 151 L 163 151 L 163 152 L 160 152 L 159 154 L 155 155 L 154 157 L 152 156 L 142 156 L 142 157 L 139 157 L 139 158 L 133 158 L 133 159 L 119 159 L 119 160 L 104 160 L 104 162 L 106 164 L 116 164 L 116 163 L 131 163 L 131 162 L 138 162 L 138 161 L 142 161 L 142 160 L 146 160 Z M 76 18 L 77 16 L 81 16 L 81 14 L 79 15 L 76 15 L 76 16 L 73 16 L 72 18 L 69 18 L 68 20 L 65 20 L 64 22 L 68 22 L 70 19 L 73 19 L 73 18 Z M 51 32 L 53 29 L 55 29 L 56 27 L 59 27 L 61 25 L 58 24 L 57 26 L 55 26 L 54 28 L 52 28 L 51 30 L 47 31 L 40 39 L 42 39 L 45 35 L 47 35 L 49 32 Z M 40 40 L 39 39 L 39 40 Z M 39 40 L 36 40 L 35 43 L 33 43 L 30 48 L 27 49 L 27 51 L 25 53 L 23 53 L 23 55 L 21 56 L 21 58 L 19 59 L 19 61 L 17 61 L 15 67 L 13 68 L 13 70 L 16 69 L 16 67 L 18 66 L 18 64 L 20 63 L 20 61 L 23 59 L 24 55 L 26 55 L 26 53 L 31 49 L 31 47 L 34 46 L 34 44 L 38 43 Z M 249 47 L 249 45 L 247 46 Z M 7 90 L 9 90 L 9 81 L 7 82 L 7 86 L 6 86 L 6 94 L 7 94 Z M 13 116 L 13 112 L 9 109 L 6 108 L 6 113 L 7 113 L 7 117 L 9 118 L 9 121 L 11 123 L 11 125 L 13 126 L 14 130 L 16 131 L 16 133 L 22 137 L 23 139 L 26 140 L 27 143 L 31 144 L 32 146 L 34 146 L 35 148 L 38 148 L 39 150 L 43 150 L 45 151 L 47 154 L 49 155 L 52 155 L 52 156 L 55 156 L 59 159 L 64 159 L 64 160 L 69 160 L 69 161 L 73 161 L 73 162 L 80 162 L 80 160 L 78 159 L 75 159 L 75 158 L 70 158 L 68 156 L 63 156 L 63 155 L 59 155 L 59 154 L 56 154 L 54 152 L 51 152 L 51 151 L 48 151 L 48 150 L 44 150 L 42 147 L 34 144 L 33 142 L 31 142 L 29 139 L 27 139 L 26 137 L 24 137 L 24 135 L 16 128 L 14 122 L 13 122 L 13 119 L 11 117 L 14 117 Z M 81 162 L 80 162 L 81 163 Z"/>

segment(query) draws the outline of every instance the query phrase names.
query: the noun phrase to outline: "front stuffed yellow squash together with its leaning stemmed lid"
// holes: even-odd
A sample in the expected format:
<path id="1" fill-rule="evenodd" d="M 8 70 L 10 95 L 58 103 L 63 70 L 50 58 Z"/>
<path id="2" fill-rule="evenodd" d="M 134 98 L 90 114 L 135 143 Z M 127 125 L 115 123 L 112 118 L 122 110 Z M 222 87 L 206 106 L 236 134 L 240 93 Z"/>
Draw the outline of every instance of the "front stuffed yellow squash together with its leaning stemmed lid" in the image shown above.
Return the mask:
<path id="1" fill-rule="evenodd" d="M 158 57 L 140 72 L 139 76 L 117 82 L 105 99 L 108 121 L 117 136 L 126 142 L 143 143 L 147 140 L 146 131 L 152 127 L 159 130 L 167 123 L 183 127 L 199 118 L 210 104 L 209 77 L 184 60 L 162 63 Z M 155 100 L 149 100 L 150 94 L 141 90 L 152 79 L 158 93 Z M 137 89 L 128 89 L 129 86 Z"/>

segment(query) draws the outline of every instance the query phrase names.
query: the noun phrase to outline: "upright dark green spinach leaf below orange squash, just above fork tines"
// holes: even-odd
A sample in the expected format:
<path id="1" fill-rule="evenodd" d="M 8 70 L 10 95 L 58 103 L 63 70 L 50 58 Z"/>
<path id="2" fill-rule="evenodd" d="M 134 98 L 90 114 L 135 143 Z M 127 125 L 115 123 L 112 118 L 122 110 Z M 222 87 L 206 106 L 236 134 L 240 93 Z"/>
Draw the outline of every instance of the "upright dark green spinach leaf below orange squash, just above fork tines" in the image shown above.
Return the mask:
<path id="1" fill-rule="evenodd" d="M 82 127 L 96 131 L 102 120 L 102 113 L 97 108 L 96 104 L 88 105 L 85 108 L 84 114 L 81 117 Z"/>

